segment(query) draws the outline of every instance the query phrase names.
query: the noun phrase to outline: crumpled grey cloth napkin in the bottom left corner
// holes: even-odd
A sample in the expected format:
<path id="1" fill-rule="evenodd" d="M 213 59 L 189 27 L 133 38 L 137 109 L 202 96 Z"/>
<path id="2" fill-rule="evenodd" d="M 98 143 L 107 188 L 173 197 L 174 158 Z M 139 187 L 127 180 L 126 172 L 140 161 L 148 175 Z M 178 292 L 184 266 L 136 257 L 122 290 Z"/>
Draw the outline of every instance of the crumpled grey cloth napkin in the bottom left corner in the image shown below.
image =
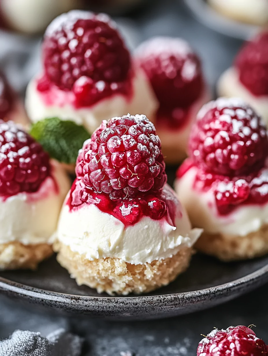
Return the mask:
<path id="1" fill-rule="evenodd" d="M 64 329 L 47 337 L 33 331 L 16 330 L 9 339 L 0 341 L 1 356 L 79 356 L 83 340 Z"/>

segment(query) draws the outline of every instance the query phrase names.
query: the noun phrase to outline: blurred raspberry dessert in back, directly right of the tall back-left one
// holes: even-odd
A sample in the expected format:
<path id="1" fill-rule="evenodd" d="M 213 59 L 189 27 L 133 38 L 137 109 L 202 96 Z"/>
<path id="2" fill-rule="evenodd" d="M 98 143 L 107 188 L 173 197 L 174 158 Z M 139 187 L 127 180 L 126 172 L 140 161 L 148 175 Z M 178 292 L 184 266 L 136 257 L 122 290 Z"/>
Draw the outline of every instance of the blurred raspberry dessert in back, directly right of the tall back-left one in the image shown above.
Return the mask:
<path id="1" fill-rule="evenodd" d="M 158 99 L 155 125 L 166 163 L 186 156 L 190 128 L 209 99 L 200 59 L 181 38 L 154 37 L 137 48 L 135 61 Z"/>

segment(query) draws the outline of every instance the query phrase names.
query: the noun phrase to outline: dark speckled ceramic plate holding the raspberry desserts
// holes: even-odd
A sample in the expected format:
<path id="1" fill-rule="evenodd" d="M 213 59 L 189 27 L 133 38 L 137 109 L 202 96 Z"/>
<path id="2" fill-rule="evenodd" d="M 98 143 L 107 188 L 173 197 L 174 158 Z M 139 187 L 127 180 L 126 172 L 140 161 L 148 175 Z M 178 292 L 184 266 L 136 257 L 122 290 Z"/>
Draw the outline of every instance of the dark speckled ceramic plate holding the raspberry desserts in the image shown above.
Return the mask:
<path id="1" fill-rule="evenodd" d="M 175 169 L 168 168 L 172 184 Z M 196 254 L 189 269 L 168 286 L 141 297 L 110 297 L 77 286 L 55 256 L 38 270 L 0 272 L 0 292 L 52 311 L 110 319 L 149 319 L 186 314 L 224 303 L 268 281 L 268 256 L 222 263 Z"/>

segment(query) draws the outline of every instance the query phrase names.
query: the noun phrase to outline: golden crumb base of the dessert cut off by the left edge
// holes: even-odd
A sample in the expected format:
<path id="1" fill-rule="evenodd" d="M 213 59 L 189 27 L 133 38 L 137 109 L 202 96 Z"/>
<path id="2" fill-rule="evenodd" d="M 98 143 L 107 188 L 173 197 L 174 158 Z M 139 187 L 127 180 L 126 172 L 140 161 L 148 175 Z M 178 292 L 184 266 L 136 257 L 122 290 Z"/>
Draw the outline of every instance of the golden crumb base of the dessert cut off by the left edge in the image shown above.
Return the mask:
<path id="1" fill-rule="evenodd" d="M 18 241 L 0 244 L 0 270 L 36 269 L 39 262 L 53 254 L 52 245 L 23 245 Z"/>

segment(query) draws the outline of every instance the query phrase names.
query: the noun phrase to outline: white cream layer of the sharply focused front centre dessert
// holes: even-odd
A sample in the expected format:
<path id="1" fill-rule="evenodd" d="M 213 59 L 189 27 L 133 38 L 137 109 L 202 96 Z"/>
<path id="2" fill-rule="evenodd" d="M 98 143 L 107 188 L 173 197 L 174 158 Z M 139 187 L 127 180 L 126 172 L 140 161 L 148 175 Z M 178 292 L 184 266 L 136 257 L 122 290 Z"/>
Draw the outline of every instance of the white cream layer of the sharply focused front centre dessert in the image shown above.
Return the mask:
<path id="1" fill-rule="evenodd" d="M 125 227 L 94 204 L 84 204 L 71 211 L 64 204 L 57 237 L 73 252 L 85 254 L 88 260 L 111 257 L 138 265 L 172 257 L 181 248 L 194 245 L 201 230 L 191 230 L 186 211 L 179 202 L 175 225 L 170 225 L 166 218 L 152 220 L 144 216 L 135 225 Z"/>

